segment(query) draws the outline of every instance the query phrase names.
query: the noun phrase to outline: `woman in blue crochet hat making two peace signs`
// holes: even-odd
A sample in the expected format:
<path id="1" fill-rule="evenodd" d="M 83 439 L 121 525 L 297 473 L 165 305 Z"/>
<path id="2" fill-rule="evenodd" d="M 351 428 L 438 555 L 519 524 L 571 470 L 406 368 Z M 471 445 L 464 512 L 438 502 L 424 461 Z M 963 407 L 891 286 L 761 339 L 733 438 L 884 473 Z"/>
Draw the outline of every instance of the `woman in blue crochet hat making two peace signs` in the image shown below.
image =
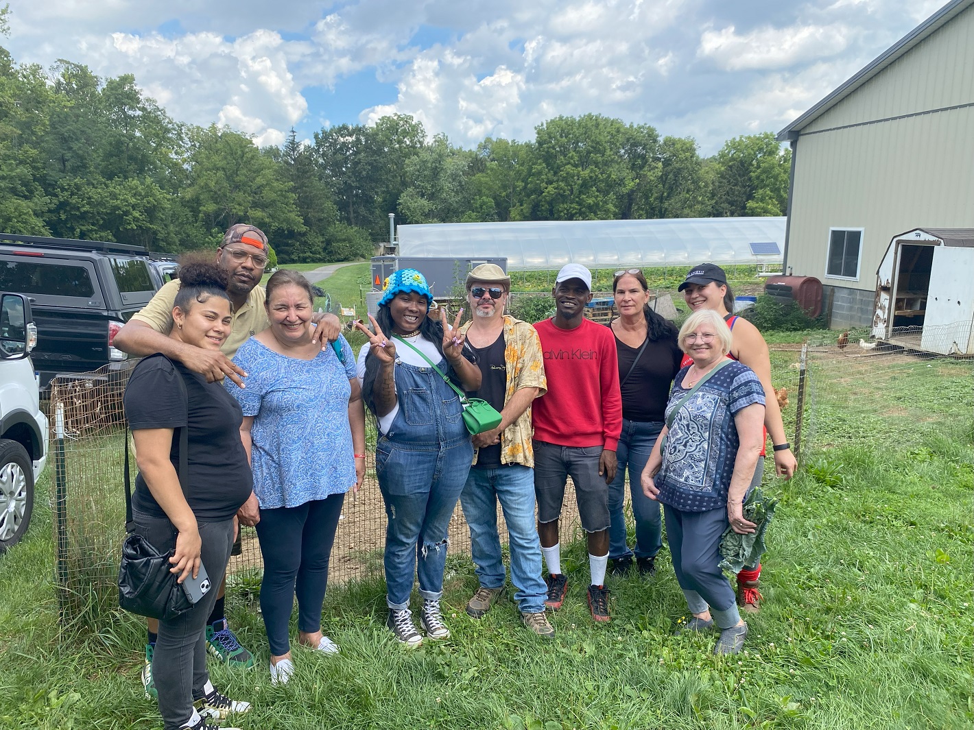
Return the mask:
<path id="1" fill-rule="evenodd" d="M 423 637 L 413 624 L 409 594 L 419 574 L 420 624 L 428 639 L 446 639 L 439 600 L 443 595 L 447 526 L 467 482 L 473 446 L 457 394 L 436 373 L 466 390 L 480 387 L 480 369 L 465 358 L 460 310 L 452 329 L 445 308 L 428 316 L 432 295 L 415 269 L 386 280 L 379 311 L 358 353 L 362 397 L 379 421 L 375 470 L 386 503 L 386 602 L 388 626 L 407 646 Z"/>

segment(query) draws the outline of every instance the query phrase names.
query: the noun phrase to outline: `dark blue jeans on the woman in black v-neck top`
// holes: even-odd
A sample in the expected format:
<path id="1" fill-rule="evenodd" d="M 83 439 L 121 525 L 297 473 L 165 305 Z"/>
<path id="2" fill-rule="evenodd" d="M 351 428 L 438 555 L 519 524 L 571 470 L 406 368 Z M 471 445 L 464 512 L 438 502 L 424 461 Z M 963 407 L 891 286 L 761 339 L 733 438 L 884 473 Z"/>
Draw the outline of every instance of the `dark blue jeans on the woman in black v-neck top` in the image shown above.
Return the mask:
<path id="1" fill-rule="evenodd" d="M 618 469 L 616 478 L 609 485 L 609 557 L 631 558 L 633 552 L 626 544 L 625 514 L 622 510 L 625 501 L 625 472 L 629 471 L 629 492 L 632 493 L 632 516 L 636 520 L 637 558 L 653 558 L 663 544 L 662 519 L 659 515 L 659 502 L 643 493 L 640 476 L 650 460 L 656 445 L 656 438 L 663 424 L 622 419 L 622 434 L 618 439 Z"/>

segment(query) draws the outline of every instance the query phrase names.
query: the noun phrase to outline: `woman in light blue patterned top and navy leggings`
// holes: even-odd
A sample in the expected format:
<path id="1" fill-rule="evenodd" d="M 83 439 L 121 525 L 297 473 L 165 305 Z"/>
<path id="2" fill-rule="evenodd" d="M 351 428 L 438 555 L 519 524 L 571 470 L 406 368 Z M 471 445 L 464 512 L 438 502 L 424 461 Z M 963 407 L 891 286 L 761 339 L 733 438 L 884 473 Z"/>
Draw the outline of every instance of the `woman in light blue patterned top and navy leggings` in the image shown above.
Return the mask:
<path id="1" fill-rule="evenodd" d="M 345 493 L 365 473 L 365 411 L 352 347 L 342 337 L 337 348 L 312 342 L 308 279 L 282 270 L 266 286 L 271 326 L 234 357 L 248 374 L 246 386 L 228 380 L 227 388 L 244 410 L 241 436 L 260 506 L 260 607 L 278 683 L 294 671 L 288 623 L 295 594 L 298 640 L 338 651 L 321 633 L 321 602 Z"/>

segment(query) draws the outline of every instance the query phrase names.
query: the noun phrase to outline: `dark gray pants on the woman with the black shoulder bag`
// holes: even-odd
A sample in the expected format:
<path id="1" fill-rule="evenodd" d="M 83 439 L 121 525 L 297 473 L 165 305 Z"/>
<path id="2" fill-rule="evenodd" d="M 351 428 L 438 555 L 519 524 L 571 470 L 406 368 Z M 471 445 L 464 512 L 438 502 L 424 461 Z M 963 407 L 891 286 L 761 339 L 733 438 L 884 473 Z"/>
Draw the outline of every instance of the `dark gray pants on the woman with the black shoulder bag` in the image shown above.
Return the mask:
<path id="1" fill-rule="evenodd" d="M 132 515 L 135 531 L 157 549 L 175 546 L 176 530 L 166 518 Z M 193 700 L 203 696 L 209 681 L 206 671 L 206 619 L 216 602 L 217 586 L 230 560 L 234 544 L 234 521 L 199 523 L 203 540 L 201 560 L 212 586 L 190 610 L 159 622 L 159 639 L 152 655 L 152 677 L 159 693 L 159 713 L 166 730 L 177 730 L 193 716 Z"/>

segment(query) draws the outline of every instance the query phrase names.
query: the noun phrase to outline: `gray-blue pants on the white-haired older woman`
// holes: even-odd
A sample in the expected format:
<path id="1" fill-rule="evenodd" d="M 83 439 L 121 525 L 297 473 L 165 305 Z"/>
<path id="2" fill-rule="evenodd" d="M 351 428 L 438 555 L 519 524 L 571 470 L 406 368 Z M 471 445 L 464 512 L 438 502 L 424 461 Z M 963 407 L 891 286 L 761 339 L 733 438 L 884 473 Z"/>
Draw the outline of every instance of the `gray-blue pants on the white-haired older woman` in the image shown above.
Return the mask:
<path id="1" fill-rule="evenodd" d="M 666 541 L 669 543 L 676 580 L 683 589 L 691 613 L 703 613 L 709 605 L 714 622 L 730 629 L 740 620 L 733 589 L 721 562 L 721 535 L 728 528 L 727 507 L 705 512 L 684 512 L 663 505 Z"/>

